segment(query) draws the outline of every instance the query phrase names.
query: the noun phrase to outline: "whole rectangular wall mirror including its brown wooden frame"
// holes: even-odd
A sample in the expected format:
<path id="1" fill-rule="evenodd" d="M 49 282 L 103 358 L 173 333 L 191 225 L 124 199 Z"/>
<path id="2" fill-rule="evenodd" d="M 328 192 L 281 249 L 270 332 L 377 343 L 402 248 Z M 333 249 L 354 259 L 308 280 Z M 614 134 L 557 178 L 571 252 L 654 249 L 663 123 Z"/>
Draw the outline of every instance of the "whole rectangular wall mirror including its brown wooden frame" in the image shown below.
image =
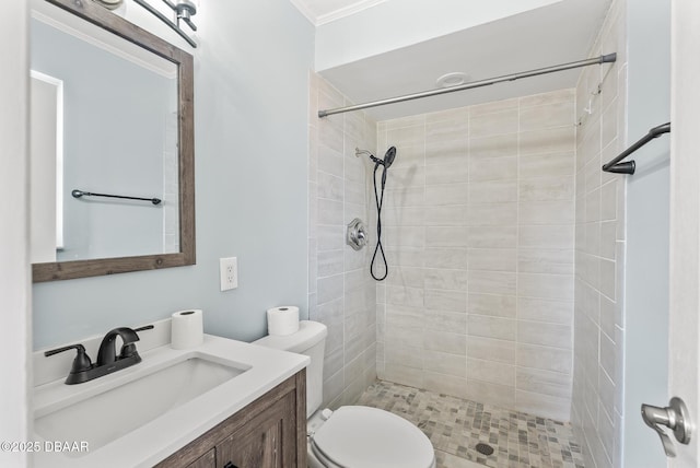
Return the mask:
<path id="1" fill-rule="evenodd" d="M 194 265 L 191 55 L 92 1 L 32 16 L 34 282 Z"/>

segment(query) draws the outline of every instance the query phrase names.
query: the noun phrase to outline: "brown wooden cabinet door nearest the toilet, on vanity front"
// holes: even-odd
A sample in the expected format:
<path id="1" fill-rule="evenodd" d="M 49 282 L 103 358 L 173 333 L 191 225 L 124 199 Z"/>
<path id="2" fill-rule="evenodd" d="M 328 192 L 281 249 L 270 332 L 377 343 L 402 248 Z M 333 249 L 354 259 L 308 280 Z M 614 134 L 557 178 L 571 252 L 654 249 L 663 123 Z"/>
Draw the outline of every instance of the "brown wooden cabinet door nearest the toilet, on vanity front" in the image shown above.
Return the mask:
<path id="1" fill-rule="evenodd" d="M 217 445 L 219 468 L 282 468 L 296 463 L 294 393 L 287 394 Z"/>

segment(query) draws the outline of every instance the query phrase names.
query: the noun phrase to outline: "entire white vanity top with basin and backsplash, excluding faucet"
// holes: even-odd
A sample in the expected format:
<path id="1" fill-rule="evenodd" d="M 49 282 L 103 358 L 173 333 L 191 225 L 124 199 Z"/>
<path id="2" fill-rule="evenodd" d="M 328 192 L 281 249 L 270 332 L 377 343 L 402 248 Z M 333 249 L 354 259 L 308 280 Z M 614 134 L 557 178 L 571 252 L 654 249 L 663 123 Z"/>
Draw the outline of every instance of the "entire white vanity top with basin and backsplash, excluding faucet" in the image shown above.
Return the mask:
<path id="1" fill-rule="evenodd" d="M 84 384 L 63 384 L 72 356 L 34 353 L 36 468 L 151 468 L 308 364 L 305 355 L 211 335 L 175 350 L 170 318 L 153 325 L 139 342 L 142 362 Z M 101 341 L 81 340 L 91 355 Z"/>

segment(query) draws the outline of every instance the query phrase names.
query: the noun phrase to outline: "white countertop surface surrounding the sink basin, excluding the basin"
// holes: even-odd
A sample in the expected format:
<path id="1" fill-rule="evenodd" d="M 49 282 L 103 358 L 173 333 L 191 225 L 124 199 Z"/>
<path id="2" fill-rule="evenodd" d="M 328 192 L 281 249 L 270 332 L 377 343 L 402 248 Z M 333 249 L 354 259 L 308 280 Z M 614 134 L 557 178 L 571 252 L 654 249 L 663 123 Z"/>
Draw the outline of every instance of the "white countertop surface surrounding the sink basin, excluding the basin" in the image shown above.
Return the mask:
<path id="1" fill-rule="evenodd" d="M 189 350 L 174 350 L 166 344 L 139 353 L 143 359 L 141 363 L 84 384 L 65 385 L 65 378 L 61 378 L 34 387 L 35 418 L 164 368 L 173 360 L 183 360 L 187 354 L 211 356 L 247 370 L 116 441 L 94 451 L 89 449 L 80 456 L 46 452 L 44 448 L 47 441 L 35 435 L 37 446 L 40 446 L 34 455 L 36 467 L 152 467 L 294 375 L 310 362 L 305 355 L 209 335 L 205 336 L 205 342 L 200 347 Z M 109 421 L 104 423 L 109 424 Z"/>

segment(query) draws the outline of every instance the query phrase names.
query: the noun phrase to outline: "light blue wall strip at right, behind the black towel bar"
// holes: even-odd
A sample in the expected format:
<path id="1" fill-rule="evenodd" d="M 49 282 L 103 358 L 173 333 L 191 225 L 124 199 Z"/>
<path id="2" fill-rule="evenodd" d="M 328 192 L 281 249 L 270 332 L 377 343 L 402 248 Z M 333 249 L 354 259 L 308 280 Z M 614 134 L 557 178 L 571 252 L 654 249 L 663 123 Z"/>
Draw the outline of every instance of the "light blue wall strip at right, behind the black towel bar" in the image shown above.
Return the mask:
<path id="1" fill-rule="evenodd" d="M 628 142 L 670 116 L 670 5 L 628 0 Z M 627 186 L 625 294 L 625 466 L 666 466 L 658 435 L 640 406 L 668 402 L 669 143 L 667 134 L 634 153 Z"/>

